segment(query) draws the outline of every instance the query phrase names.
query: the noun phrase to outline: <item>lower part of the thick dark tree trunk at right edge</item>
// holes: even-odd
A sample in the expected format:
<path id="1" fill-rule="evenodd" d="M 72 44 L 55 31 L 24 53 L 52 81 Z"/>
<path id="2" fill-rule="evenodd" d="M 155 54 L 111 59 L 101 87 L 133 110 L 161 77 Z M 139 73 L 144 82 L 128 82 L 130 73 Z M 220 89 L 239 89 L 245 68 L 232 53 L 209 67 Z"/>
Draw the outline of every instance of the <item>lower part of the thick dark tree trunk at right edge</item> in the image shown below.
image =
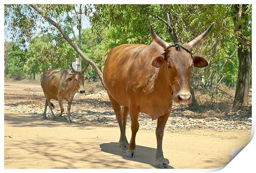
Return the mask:
<path id="1" fill-rule="evenodd" d="M 251 75 L 251 49 L 242 44 L 238 44 L 237 52 L 239 67 L 235 99 L 233 103 L 234 110 L 238 110 L 241 104 L 244 106 L 248 105 Z"/>

